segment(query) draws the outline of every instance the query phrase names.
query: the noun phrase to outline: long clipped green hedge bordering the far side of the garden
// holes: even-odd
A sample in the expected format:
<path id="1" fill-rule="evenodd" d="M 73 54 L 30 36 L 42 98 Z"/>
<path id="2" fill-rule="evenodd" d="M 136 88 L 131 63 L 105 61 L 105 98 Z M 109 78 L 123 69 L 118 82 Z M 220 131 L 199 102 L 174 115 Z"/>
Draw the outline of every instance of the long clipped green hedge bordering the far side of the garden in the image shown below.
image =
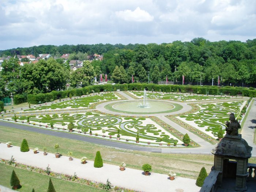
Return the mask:
<path id="1" fill-rule="evenodd" d="M 54 101 L 56 99 L 68 98 L 72 96 L 80 97 L 91 93 L 99 93 L 102 91 L 127 91 L 127 90 L 148 90 L 148 91 L 162 91 L 165 93 L 193 93 L 193 94 L 210 94 L 210 95 L 243 95 L 246 97 L 256 97 L 256 90 L 250 90 L 243 87 L 217 87 L 217 86 L 190 86 L 190 85 L 158 85 L 154 83 L 130 83 L 130 84 L 104 84 L 86 86 L 78 89 L 52 91 L 46 94 L 29 94 L 14 95 L 14 103 L 29 102 L 31 104 L 38 104 L 44 102 Z"/>

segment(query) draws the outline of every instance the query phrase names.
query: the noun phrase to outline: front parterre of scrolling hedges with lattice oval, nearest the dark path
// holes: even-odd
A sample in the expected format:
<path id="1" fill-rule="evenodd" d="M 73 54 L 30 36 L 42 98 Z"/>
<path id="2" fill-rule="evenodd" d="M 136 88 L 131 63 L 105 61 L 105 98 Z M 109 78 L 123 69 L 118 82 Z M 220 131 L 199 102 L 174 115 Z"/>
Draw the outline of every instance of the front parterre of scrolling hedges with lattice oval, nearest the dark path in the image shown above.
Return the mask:
<path id="1" fill-rule="evenodd" d="M 20 121 L 26 121 L 29 117 L 30 121 L 47 123 L 49 126 L 68 124 L 70 122 L 80 125 L 82 132 L 94 132 L 102 129 L 106 130 L 106 134 L 117 136 L 120 134 L 122 137 L 130 136 L 134 140 L 138 135 L 139 138 L 160 142 L 174 143 L 178 142 L 177 139 L 171 138 L 170 132 L 165 133 L 164 129 L 156 127 L 154 124 L 147 124 L 146 118 L 133 118 L 133 117 L 114 117 L 103 116 L 93 112 L 86 112 L 83 114 L 53 114 L 53 115 L 30 115 L 21 116 L 18 118 Z"/>

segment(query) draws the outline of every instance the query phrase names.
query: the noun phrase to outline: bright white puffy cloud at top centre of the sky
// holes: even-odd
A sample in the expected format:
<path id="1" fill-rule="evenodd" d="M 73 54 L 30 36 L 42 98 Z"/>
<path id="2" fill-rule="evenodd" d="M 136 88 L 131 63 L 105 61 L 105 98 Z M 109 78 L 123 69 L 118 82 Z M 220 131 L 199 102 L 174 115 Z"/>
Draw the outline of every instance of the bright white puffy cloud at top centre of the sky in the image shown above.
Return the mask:
<path id="1" fill-rule="evenodd" d="M 137 7 L 134 11 L 117 11 L 116 15 L 125 21 L 149 22 L 154 19 L 154 16 L 151 16 L 147 11 L 141 10 L 139 7 Z"/>

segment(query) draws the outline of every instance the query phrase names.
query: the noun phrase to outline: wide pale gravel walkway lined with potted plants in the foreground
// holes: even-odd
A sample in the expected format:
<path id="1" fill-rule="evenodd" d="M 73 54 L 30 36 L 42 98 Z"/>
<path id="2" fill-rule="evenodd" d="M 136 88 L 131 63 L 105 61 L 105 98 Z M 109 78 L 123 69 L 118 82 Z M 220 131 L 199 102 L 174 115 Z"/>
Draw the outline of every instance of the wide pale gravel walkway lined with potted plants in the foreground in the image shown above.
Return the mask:
<path id="1" fill-rule="evenodd" d="M 0 143 L 0 158 L 10 159 L 14 155 L 16 162 L 26 165 L 40 167 L 45 169 L 48 166 L 53 172 L 74 175 L 76 172 L 78 177 L 89 180 L 106 183 L 107 179 L 116 186 L 134 189 L 145 192 L 198 192 L 200 187 L 195 185 L 196 180 L 175 177 L 174 181 L 170 181 L 166 174 L 151 173 L 150 176 L 144 176 L 142 170 L 126 168 L 121 172 L 116 165 L 105 164 L 101 168 L 95 168 L 93 161 L 87 161 L 81 164 L 80 159 L 69 161 L 67 156 L 55 158 L 54 154 L 48 153 L 44 156 L 42 151 L 34 154 L 33 150 L 29 152 L 20 152 L 20 147 L 12 146 L 7 148 L 5 143 Z M 182 189 L 182 190 L 178 190 Z"/>

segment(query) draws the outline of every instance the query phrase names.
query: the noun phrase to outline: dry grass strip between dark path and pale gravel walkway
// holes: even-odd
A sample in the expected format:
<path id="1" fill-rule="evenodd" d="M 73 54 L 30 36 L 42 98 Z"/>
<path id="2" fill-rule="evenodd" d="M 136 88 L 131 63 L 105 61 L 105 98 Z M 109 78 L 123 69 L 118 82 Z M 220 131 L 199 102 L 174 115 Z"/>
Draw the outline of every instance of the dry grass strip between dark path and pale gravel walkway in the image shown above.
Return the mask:
<path id="1" fill-rule="evenodd" d="M 67 155 L 68 151 L 73 151 L 74 158 L 86 156 L 94 161 L 96 152 L 101 151 L 104 163 L 119 165 L 125 162 L 127 167 L 134 169 L 141 169 L 144 163 L 149 163 L 155 173 L 167 174 L 169 170 L 174 170 L 178 176 L 194 179 L 197 178 L 203 166 L 209 173 L 214 163 L 213 155 L 164 154 L 126 150 L 0 126 L 0 142 L 11 141 L 14 146 L 20 146 L 24 138 L 27 139 L 31 149 L 38 147 L 42 150 L 45 146 L 49 153 L 56 153 L 53 146 L 59 143 L 58 151 L 63 155 Z M 249 162 L 256 163 L 256 158 L 250 158 Z"/>

